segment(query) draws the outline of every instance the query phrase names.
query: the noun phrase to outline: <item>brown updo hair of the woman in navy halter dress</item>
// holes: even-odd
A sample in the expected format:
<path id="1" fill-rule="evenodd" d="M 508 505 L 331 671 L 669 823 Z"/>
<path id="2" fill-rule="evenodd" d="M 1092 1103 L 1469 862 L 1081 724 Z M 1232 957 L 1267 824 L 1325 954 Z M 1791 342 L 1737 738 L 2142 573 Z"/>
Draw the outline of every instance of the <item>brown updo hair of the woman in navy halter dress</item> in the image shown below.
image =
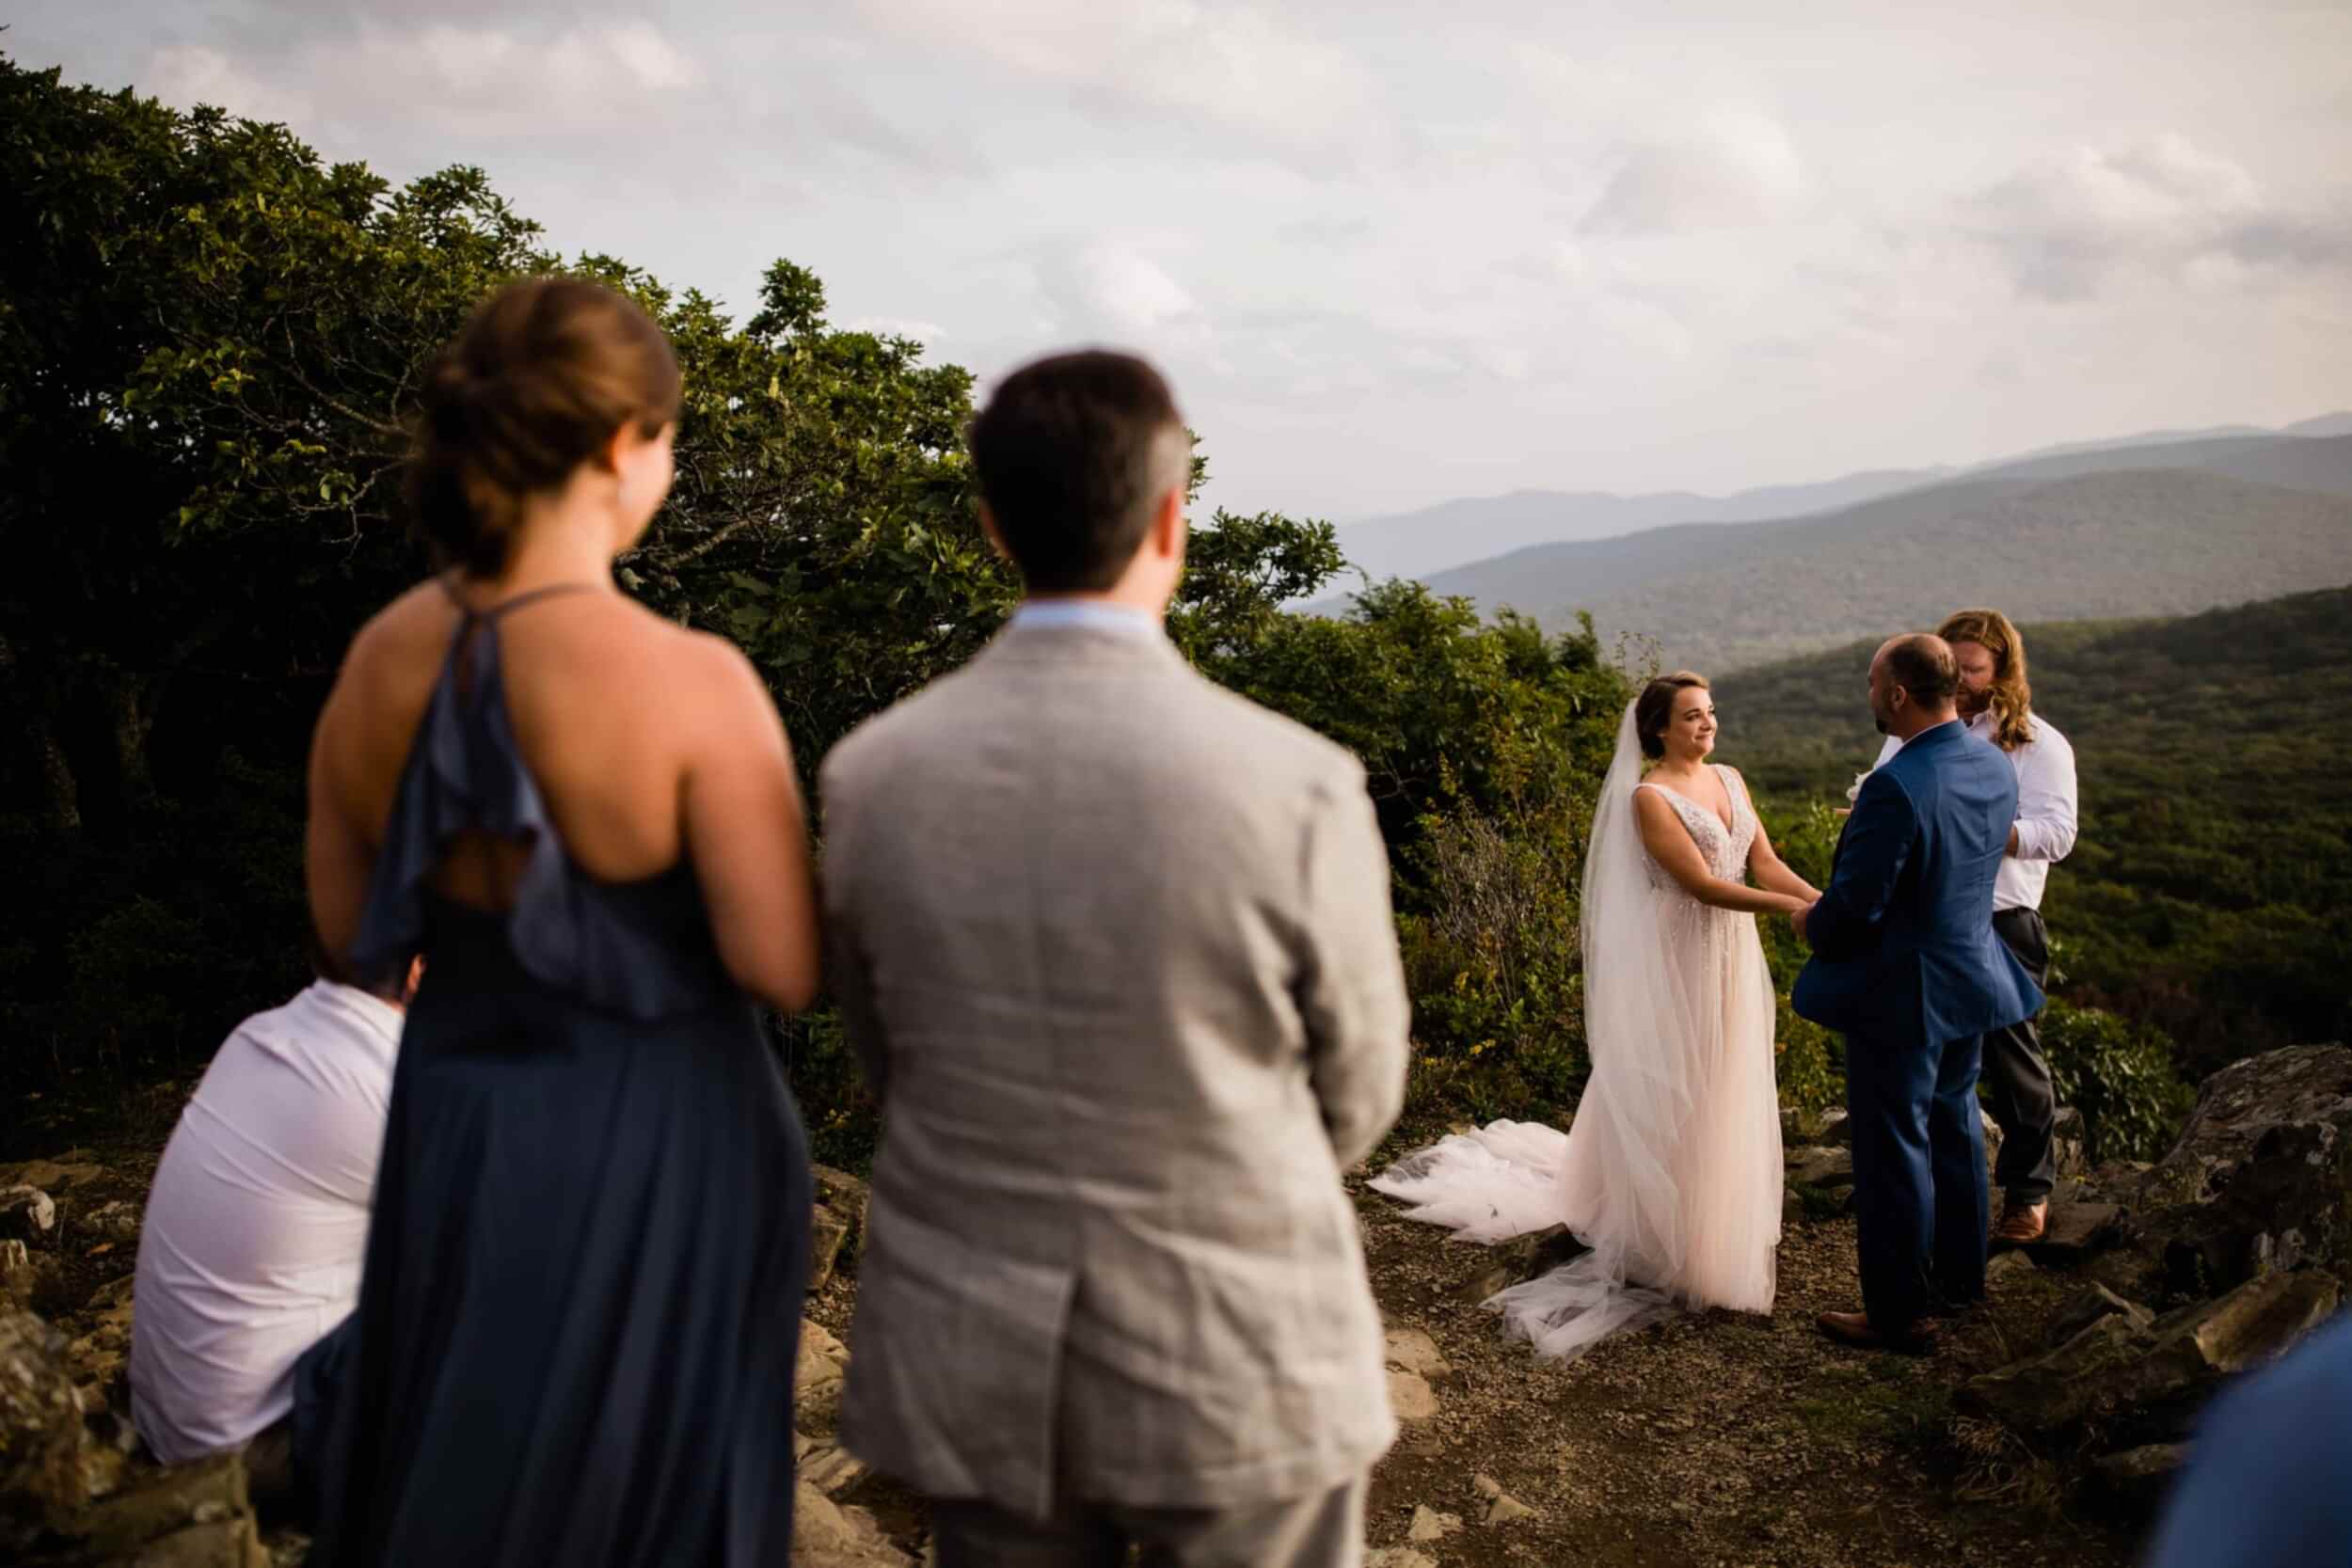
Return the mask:
<path id="1" fill-rule="evenodd" d="M 621 425 L 677 418 L 677 355 L 633 301 L 579 277 L 485 299 L 426 369 L 407 498 L 440 567 L 496 576 L 522 503 L 557 489 Z"/>

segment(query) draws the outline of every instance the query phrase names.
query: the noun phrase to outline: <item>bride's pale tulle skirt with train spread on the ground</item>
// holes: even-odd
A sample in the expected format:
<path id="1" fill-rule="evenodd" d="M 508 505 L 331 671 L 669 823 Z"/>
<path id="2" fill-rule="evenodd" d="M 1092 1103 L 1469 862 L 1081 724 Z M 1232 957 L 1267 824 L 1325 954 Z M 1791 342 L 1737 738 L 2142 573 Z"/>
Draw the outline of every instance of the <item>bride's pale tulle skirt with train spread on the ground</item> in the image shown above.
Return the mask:
<path id="1" fill-rule="evenodd" d="M 1771 1312 L 1780 1244 L 1773 990 L 1755 917 L 1670 896 L 1646 990 L 1592 985 L 1592 1081 L 1569 1131 L 1494 1121 L 1378 1192 L 1463 1241 L 1566 1225 L 1592 1251 L 1486 1305 L 1545 1356 L 1679 1307 Z M 1639 1006 L 1635 1006 L 1639 1001 Z M 1613 1016 L 1611 1016 L 1613 1013 Z"/>

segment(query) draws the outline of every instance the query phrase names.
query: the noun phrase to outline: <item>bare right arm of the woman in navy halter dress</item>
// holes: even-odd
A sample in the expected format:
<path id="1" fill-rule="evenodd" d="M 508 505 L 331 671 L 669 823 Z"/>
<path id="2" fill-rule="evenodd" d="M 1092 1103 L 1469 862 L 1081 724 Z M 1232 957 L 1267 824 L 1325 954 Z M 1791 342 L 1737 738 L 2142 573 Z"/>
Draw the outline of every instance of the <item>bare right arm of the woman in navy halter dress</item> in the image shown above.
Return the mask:
<path id="1" fill-rule="evenodd" d="M 696 637 L 684 769 L 684 839 L 710 933 L 736 985 L 797 1013 L 816 999 L 816 882 L 783 719 L 731 644 Z"/>

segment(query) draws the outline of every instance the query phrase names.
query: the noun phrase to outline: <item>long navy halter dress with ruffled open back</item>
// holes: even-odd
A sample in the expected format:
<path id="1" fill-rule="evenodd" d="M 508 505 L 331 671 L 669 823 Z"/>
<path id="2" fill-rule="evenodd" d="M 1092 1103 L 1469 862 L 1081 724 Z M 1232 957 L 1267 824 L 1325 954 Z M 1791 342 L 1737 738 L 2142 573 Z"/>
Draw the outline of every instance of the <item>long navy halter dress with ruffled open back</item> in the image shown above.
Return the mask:
<path id="1" fill-rule="evenodd" d="M 536 597 L 536 595 L 524 595 Z M 313 1563 L 783 1563 L 809 1159 L 691 865 L 600 882 L 515 748 L 496 616 L 419 726 L 353 964 L 426 952 Z M 529 844 L 513 910 L 430 891 Z"/>

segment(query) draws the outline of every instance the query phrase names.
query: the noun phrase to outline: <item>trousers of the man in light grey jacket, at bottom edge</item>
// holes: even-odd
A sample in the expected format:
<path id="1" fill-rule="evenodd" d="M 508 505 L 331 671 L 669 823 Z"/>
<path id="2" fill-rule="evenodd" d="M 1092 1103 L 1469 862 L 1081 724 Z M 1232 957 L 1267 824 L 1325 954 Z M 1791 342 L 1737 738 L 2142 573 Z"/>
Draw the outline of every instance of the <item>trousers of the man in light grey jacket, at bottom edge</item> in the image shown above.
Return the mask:
<path id="1" fill-rule="evenodd" d="M 931 1505 L 938 1568 L 1357 1568 L 1369 1476 L 1230 1509 L 1065 1505 L 1023 1519 L 993 1502 Z"/>

